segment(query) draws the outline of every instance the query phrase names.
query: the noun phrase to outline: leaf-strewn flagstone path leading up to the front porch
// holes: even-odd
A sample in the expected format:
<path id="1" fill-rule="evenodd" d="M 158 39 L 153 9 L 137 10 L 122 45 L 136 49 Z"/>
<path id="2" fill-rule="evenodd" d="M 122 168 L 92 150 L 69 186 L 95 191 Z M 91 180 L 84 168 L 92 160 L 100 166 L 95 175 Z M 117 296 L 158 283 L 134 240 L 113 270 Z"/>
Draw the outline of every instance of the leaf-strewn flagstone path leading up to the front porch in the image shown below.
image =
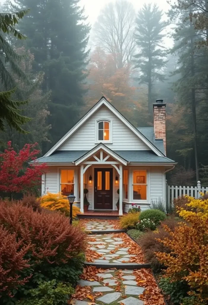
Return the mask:
<path id="1" fill-rule="evenodd" d="M 85 224 L 87 230 L 109 230 L 108 221 L 93 221 L 90 220 Z M 101 257 L 95 259 L 94 262 L 97 263 L 130 263 L 131 260 L 138 260 L 138 253 L 132 254 L 132 240 L 127 242 L 129 238 L 126 233 L 117 234 L 94 234 L 88 236 L 89 248 L 95 251 Z M 125 245 L 126 243 L 126 245 Z M 133 242 L 134 243 L 134 242 Z M 136 243 L 133 246 L 135 252 L 137 252 L 137 247 L 140 248 Z M 131 253 L 131 254 L 130 254 Z M 143 255 L 142 255 L 143 256 Z M 143 260 L 143 259 L 141 259 Z M 141 261 L 140 263 L 143 263 Z M 95 268 L 95 267 L 85 267 L 85 268 Z M 73 298 L 70 300 L 71 305 L 155 305 L 161 304 L 165 305 L 163 297 L 154 278 L 152 276 L 150 269 L 141 270 L 117 270 L 116 268 L 109 269 L 94 269 L 94 278 L 92 275 L 88 277 L 82 277 L 78 282 L 76 292 Z M 90 273 L 90 270 L 87 271 Z M 87 274 L 85 272 L 85 275 Z M 91 278 L 90 278 L 91 277 Z M 148 278 L 146 280 L 146 278 Z M 85 278 L 85 279 L 83 279 Z M 145 278 L 145 280 L 144 280 Z M 151 280 L 150 280 L 151 278 Z M 152 286 L 151 293 L 158 293 L 159 297 L 156 300 L 160 300 L 160 303 L 152 303 L 151 301 L 145 302 L 146 287 L 148 287 L 147 281 L 150 280 L 150 285 Z M 144 294 L 143 294 L 144 292 Z M 141 295 L 139 297 L 139 295 Z M 151 299 L 151 298 L 150 298 Z M 144 301 L 143 301 L 144 300 Z M 149 300 L 149 298 L 148 298 Z"/>

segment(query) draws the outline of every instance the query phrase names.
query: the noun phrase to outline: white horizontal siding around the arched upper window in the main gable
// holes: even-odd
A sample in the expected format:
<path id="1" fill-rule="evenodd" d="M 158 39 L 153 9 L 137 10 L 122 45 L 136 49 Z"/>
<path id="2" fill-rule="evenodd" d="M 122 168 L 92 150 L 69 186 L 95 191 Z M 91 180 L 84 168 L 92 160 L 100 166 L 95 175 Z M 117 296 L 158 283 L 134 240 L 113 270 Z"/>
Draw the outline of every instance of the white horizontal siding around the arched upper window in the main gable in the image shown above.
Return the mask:
<path id="1" fill-rule="evenodd" d="M 150 150 L 150 148 L 136 136 L 121 120 L 118 119 L 106 106 L 102 106 L 96 113 L 81 126 L 58 150 L 90 150 L 95 147 L 95 128 L 97 120 L 111 120 L 113 126 L 112 144 L 107 144 L 113 150 Z"/>

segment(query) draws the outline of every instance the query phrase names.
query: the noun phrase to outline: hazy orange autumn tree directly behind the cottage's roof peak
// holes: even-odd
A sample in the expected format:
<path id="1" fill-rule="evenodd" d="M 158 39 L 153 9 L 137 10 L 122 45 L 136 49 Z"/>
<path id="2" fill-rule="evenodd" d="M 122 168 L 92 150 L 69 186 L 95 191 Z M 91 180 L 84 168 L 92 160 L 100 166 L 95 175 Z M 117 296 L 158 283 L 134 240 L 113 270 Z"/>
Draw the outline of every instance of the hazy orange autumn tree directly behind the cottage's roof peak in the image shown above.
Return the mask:
<path id="1" fill-rule="evenodd" d="M 86 98 L 88 108 L 92 107 L 101 96 L 105 96 L 134 124 L 137 124 L 135 113 L 138 110 L 141 117 L 146 116 L 145 94 L 142 88 L 136 88 L 132 84 L 131 65 L 126 64 L 122 68 L 117 68 L 114 56 L 106 54 L 97 47 L 91 55 L 89 70 L 87 78 L 89 91 Z"/>

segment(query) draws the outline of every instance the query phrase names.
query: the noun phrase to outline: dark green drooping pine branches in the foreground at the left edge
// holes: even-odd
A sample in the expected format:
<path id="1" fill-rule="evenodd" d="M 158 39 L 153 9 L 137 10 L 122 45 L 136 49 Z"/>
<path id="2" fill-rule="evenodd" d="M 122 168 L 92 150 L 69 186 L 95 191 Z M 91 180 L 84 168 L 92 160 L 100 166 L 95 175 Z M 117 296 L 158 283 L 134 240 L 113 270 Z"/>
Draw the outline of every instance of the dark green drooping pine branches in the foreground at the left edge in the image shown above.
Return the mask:
<path id="1" fill-rule="evenodd" d="M 0 130 L 5 130 L 5 122 L 9 127 L 15 128 L 15 130 L 25 133 L 21 125 L 27 123 L 30 119 L 28 117 L 21 115 L 20 106 L 25 105 L 27 101 L 13 100 L 12 94 L 15 92 L 14 87 L 16 83 L 14 78 L 8 71 L 7 67 L 10 66 L 11 70 L 15 72 L 16 75 L 25 78 L 26 76 L 22 73 L 22 70 L 19 68 L 16 60 L 20 57 L 13 51 L 12 47 L 9 45 L 9 42 L 6 41 L 4 33 L 12 34 L 15 37 L 22 39 L 25 38 L 24 35 L 19 33 L 15 29 L 15 25 L 18 23 L 19 19 L 22 19 L 23 16 L 28 12 L 28 9 L 22 10 L 17 13 L 12 14 L 0 14 L 0 77 L 1 83 L 3 84 L 6 90 L 13 87 L 9 91 L 0 92 Z"/>

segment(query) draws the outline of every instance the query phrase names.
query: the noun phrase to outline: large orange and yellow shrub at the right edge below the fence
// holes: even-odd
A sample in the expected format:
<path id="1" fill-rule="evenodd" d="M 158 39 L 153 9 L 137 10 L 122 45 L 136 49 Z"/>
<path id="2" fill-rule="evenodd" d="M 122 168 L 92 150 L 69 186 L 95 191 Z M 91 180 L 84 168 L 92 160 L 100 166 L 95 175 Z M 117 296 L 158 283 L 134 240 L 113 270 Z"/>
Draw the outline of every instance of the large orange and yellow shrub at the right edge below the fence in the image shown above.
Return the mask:
<path id="1" fill-rule="evenodd" d="M 167 267 L 165 276 L 173 281 L 185 280 L 189 295 L 195 296 L 196 304 L 208 302 L 208 199 L 187 198 L 185 208 L 180 208 L 181 223 L 173 232 L 164 225 L 170 238 L 158 239 L 170 249 L 170 253 L 158 252 L 159 261 Z"/>

